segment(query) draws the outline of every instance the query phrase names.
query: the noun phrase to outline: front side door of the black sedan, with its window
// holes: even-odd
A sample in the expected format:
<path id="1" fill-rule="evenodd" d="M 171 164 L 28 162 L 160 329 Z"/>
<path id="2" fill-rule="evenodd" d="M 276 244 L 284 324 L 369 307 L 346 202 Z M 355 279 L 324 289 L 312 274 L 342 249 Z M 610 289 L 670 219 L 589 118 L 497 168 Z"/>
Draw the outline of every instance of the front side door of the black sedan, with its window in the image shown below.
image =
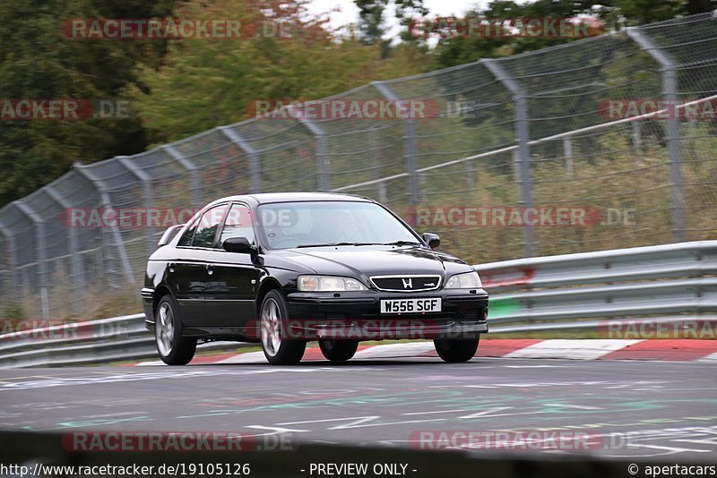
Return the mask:
<path id="1" fill-rule="evenodd" d="M 254 220 L 251 209 L 234 203 L 229 209 L 217 241 L 218 248 L 207 257 L 212 278 L 206 283 L 205 311 L 212 326 L 239 328 L 254 325 L 256 291 L 263 271 L 255 266 L 250 254 L 227 252 L 221 243 L 229 237 L 246 237 L 255 244 Z"/>

